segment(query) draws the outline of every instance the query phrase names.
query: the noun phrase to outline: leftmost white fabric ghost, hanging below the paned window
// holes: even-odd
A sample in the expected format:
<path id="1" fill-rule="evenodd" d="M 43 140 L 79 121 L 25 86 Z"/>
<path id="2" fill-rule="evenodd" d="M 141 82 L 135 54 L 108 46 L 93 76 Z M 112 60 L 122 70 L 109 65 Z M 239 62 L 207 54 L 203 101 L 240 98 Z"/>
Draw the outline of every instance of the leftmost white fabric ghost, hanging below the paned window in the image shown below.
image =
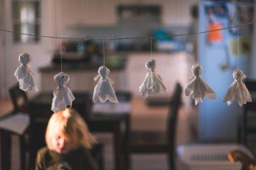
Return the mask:
<path id="1" fill-rule="evenodd" d="M 31 62 L 30 54 L 23 53 L 19 56 L 19 62 L 22 64 L 20 65 L 15 73 L 14 76 L 16 77 L 17 81 L 19 81 L 20 89 L 23 91 L 38 91 L 36 87 L 36 81 L 34 78 L 34 73 L 32 73 L 30 69 L 30 62 Z"/>

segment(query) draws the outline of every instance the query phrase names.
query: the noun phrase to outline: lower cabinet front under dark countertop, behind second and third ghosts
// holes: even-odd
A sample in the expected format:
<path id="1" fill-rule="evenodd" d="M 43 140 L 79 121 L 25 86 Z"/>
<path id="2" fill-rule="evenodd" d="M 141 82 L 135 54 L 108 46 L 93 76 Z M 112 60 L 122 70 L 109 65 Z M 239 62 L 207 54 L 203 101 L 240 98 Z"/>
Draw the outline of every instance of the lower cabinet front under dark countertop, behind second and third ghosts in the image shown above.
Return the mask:
<path id="1" fill-rule="evenodd" d="M 53 77 L 59 72 L 41 72 L 42 91 L 53 91 L 57 88 Z M 67 86 L 71 91 L 94 91 L 98 81 L 94 81 L 94 77 L 98 75 L 98 71 L 65 71 L 69 75 L 70 80 Z M 110 71 L 109 77 L 115 82 L 113 88 L 116 91 L 127 90 L 125 71 Z"/>

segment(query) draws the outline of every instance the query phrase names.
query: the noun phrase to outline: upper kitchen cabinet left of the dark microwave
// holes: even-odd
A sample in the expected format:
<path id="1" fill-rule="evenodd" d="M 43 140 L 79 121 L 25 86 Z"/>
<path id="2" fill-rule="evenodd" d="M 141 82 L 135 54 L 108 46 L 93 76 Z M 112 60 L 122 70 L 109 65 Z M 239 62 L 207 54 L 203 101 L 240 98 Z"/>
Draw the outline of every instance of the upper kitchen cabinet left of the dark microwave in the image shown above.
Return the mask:
<path id="1" fill-rule="evenodd" d="M 113 26 L 117 22 L 115 1 L 65 0 L 61 4 L 63 26 Z"/>

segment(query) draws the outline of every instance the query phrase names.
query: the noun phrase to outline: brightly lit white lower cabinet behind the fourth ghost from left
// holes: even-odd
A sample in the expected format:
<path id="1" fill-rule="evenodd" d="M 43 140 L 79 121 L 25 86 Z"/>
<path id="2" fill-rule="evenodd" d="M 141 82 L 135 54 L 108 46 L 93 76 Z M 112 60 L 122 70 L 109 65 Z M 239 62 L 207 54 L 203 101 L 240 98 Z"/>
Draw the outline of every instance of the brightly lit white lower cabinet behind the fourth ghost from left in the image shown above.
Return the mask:
<path id="1" fill-rule="evenodd" d="M 152 54 L 152 59 L 156 60 L 156 73 L 160 75 L 166 92 L 161 92 L 160 96 L 170 96 L 175 87 L 175 83 L 179 82 L 183 89 L 189 83 L 189 75 L 191 75 L 191 63 L 189 63 L 189 54 L 185 52 L 162 53 L 156 52 Z M 146 77 L 145 62 L 151 59 L 150 52 L 133 53 L 127 56 L 127 81 L 129 90 L 133 96 L 139 97 L 139 86 Z"/>

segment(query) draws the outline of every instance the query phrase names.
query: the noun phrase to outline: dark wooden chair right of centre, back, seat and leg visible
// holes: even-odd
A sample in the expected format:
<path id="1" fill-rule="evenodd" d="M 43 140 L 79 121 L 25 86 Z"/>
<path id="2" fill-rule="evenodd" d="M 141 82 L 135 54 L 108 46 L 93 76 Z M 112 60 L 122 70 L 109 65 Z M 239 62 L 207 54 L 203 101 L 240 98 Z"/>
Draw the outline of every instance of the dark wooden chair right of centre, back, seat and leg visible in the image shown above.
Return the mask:
<path id="1" fill-rule="evenodd" d="M 168 166 L 170 170 L 175 169 L 175 132 L 177 124 L 177 115 L 179 106 L 181 105 L 182 87 L 177 83 L 174 95 L 170 101 L 170 110 L 167 118 L 167 131 L 148 132 L 148 131 L 133 131 L 130 133 L 129 152 L 133 153 L 167 153 Z M 129 163 L 129 160 L 128 160 Z"/>

